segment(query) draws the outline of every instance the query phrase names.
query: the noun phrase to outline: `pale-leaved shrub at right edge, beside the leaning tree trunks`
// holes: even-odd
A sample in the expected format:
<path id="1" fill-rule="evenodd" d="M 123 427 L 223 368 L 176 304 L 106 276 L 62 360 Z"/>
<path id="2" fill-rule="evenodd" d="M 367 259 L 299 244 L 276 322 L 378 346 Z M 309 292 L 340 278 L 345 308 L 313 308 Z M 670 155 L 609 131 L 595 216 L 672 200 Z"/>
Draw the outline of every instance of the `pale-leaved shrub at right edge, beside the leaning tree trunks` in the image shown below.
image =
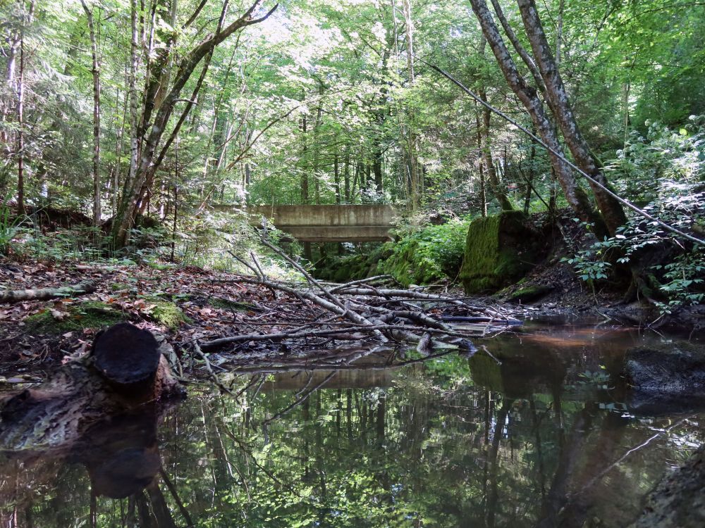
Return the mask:
<path id="1" fill-rule="evenodd" d="M 648 137 L 635 137 L 606 169 L 613 181 L 654 218 L 682 232 L 705 238 L 705 116 L 673 131 L 651 123 Z M 705 300 L 705 246 L 683 240 L 658 222 L 632 214 L 614 237 L 597 241 L 572 259 L 586 281 L 606 278 L 610 255 L 618 263 L 642 268 L 646 293 L 662 313 Z M 644 287 L 642 287 L 644 289 Z"/>

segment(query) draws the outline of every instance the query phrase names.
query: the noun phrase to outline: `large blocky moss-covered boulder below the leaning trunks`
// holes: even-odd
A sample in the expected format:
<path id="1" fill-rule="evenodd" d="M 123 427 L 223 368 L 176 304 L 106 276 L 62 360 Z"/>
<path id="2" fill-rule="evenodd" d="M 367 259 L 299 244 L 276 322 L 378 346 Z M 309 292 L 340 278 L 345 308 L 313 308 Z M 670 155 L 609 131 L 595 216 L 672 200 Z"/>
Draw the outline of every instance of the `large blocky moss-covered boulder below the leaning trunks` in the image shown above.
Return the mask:
<path id="1" fill-rule="evenodd" d="M 520 211 L 474 220 L 467 230 L 460 279 L 467 294 L 493 293 L 525 275 L 543 239 Z"/>

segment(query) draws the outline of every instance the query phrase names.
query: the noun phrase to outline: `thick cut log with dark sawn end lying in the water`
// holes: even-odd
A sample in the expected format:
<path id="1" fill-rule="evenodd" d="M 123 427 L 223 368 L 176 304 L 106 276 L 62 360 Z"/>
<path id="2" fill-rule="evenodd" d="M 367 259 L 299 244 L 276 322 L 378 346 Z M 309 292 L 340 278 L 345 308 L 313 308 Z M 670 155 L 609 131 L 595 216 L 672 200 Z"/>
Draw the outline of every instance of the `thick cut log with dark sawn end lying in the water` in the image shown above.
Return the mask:
<path id="1" fill-rule="evenodd" d="M 183 396 L 154 335 L 120 323 L 100 333 L 87 357 L 63 365 L 47 382 L 0 401 L 0 450 L 71 447 L 106 417 Z"/>

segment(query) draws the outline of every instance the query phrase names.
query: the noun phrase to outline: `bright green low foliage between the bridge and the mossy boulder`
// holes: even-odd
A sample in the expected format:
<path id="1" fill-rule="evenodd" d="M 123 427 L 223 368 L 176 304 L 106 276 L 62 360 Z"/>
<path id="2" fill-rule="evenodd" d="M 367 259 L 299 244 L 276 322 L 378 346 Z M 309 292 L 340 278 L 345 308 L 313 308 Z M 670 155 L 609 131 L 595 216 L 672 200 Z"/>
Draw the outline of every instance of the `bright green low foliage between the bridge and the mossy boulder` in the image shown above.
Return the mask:
<path id="1" fill-rule="evenodd" d="M 385 244 L 391 255 L 379 264 L 379 270 L 405 286 L 455 279 L 468 225 L 467 220 L 452 220 L 443 225 L 403 230 L 398 241 Z"/>

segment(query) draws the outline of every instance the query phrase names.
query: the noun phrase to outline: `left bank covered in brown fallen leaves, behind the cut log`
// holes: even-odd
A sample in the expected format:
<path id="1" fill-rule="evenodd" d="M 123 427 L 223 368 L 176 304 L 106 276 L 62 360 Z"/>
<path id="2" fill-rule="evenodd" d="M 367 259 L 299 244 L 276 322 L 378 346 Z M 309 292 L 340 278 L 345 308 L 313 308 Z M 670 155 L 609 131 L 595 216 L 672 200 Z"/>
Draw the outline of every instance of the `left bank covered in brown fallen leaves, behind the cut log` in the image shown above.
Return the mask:
<path id="1" fill-rule="evenodd" d="M 0 263 L 0 285 L 7 290 L 87 279 L 97 286 L 92 294 L 0 303 L 0 375 L 41 376 L 42 370 L 85 353 L 101 327 L 123 320 L 168 335 L 177 353 L 193 341 L 254 327 L 276 332 L 275 319 L 284 325 L 293 324 L 292 318 L 305 320 L 305 314 L 288 313 L 286 299 L 275 300 L 269 289 L 225 272 L 174 265 Z"/>

